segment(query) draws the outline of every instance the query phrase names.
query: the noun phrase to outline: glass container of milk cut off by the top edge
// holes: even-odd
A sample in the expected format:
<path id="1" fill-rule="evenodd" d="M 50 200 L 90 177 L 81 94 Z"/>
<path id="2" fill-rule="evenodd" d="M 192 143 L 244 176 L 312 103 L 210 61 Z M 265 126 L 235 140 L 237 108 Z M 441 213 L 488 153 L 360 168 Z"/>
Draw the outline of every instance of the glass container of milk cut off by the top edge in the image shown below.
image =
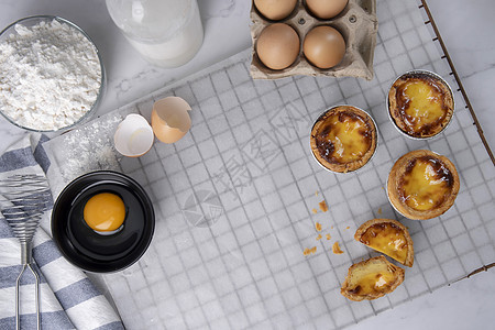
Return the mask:
<path id="1" fill-rule="evenodd" d="M 151 64 L 178 67 L 202 44 L 197 0 L 106 0 L 117 26 Z"/>

